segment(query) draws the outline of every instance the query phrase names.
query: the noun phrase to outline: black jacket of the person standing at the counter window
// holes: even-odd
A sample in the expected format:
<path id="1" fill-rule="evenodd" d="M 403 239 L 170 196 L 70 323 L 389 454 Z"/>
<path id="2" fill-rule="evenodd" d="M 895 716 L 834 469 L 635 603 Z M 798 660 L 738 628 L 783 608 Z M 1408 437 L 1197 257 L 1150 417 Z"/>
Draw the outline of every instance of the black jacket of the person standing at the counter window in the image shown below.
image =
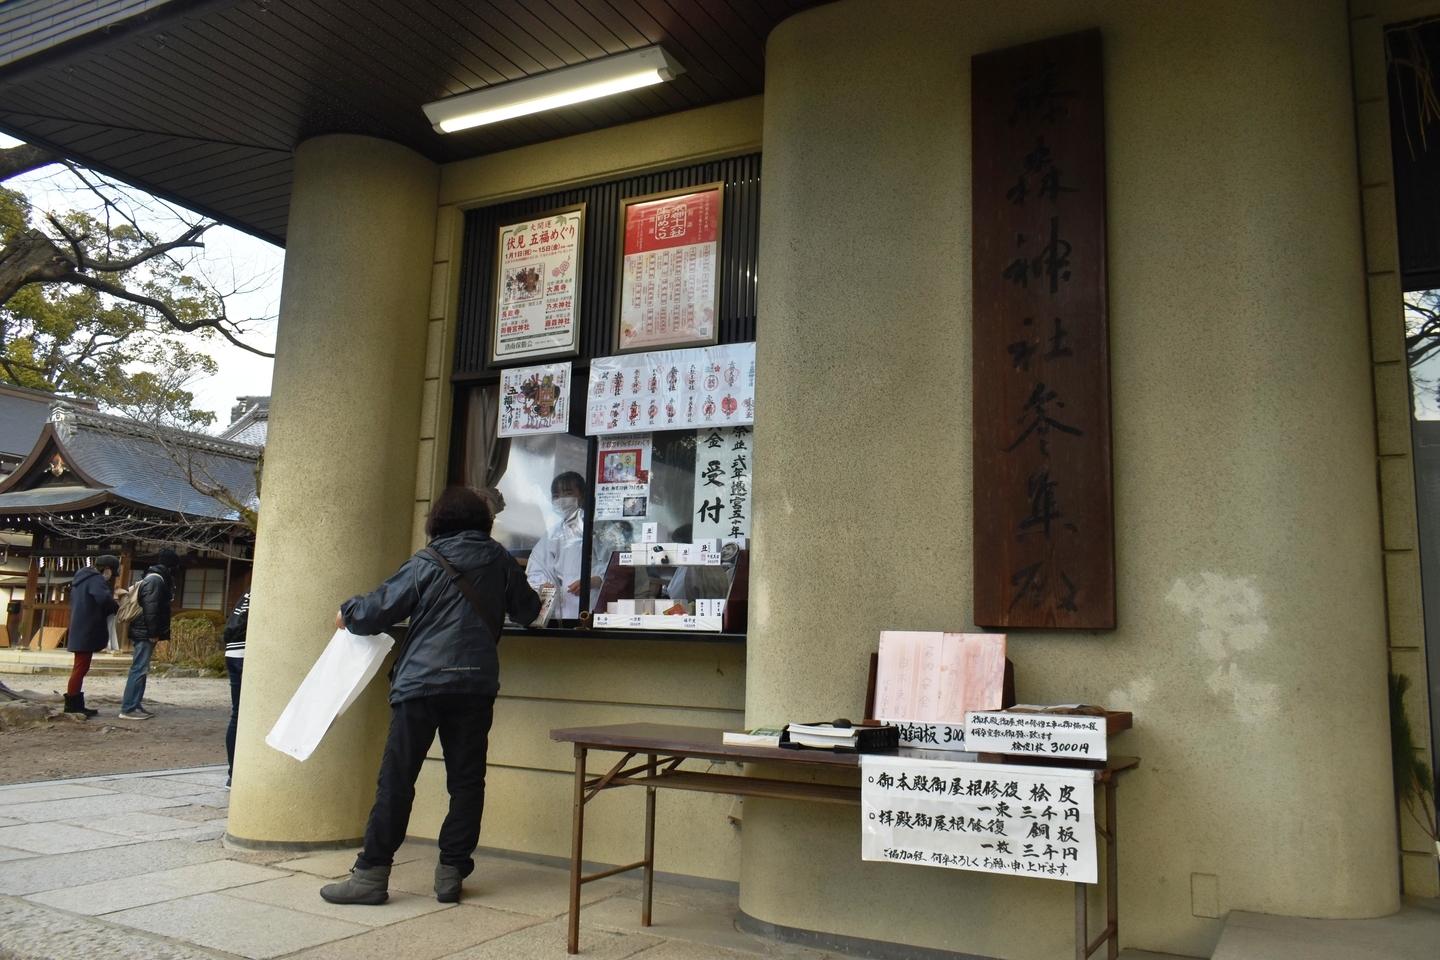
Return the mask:
<path id="1" fill-rule="evenodd" d="M 540 597 L 520 564 L 485 534 L 464 531 L 432 540 L 431 547 L 475 587 L 492 616 L 508 613 L 517 623 L 530 623 L 540 613 Z M 373 593 L 346 600 L 340 613 L 346 628 L 361 636 L 383 633 L 410 617 L 390 678 L 392 704 L 435 694 L 500 692 L 500 638 L 423 550 Z"/>

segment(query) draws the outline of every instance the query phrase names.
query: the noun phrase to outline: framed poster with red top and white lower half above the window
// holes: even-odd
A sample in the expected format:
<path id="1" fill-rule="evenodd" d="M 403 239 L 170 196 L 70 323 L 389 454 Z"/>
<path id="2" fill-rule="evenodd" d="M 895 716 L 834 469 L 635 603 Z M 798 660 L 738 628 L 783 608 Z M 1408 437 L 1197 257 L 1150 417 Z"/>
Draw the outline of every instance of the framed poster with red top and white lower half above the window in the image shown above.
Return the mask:
<path id="1" fill-rule="evenodd" d="M 717 343 L 723 203 L 723 183 L 621 201 L 615 353 Z"/>

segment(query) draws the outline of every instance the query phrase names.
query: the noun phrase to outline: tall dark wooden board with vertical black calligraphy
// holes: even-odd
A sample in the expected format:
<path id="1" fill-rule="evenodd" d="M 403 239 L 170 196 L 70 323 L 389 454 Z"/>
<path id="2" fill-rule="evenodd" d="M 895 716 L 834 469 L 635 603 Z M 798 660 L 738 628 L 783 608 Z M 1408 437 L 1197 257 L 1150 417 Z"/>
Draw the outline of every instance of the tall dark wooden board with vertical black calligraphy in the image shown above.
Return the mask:
<path id="1" fill-rule="evenodd" d="M 1100 33 L 971 60 L 975 622 L 1115 628 Z"/>

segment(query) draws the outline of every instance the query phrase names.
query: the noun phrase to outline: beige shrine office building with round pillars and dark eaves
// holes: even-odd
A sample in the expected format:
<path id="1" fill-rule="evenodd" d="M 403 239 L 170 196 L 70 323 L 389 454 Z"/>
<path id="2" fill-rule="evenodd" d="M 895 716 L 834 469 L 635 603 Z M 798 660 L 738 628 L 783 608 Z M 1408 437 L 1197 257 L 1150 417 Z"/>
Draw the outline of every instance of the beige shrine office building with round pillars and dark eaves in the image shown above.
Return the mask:
<path id="1" fill-rule="evenodd" d="M 858 718 L 881 630 L 998 629 L 1021 702 L 1133 714 L 1110 741 L 1140 759 L 1119 784 L 1122 946 L 1210 956 L 1233 911 L 1372 918 L 1440 897 L 1395 796 L 1387 679 L 1410 678 L 1433 769 L 1440 478 L 1405 302 L 1440 288 L 1440 127 L 1416 107 L 1436 20 L 1440 0 L 0 4 L 0 130 L 287 250 L 228 842 L 363 835 L 383 676 L 307 761 L 265 735 L 338 604 L 423 547 L 448 484 L 498 485 L 513 530 L 549 507 L 564 445 L 595 478 L 583 410 L 562 452 L 516 440 L 494 475 L 497 226 L 586 204 L 566 357 L 583 391 L 616 351 L 622 200 L 720 183 L 716 340 L 756 356 L 747 623 L 507 630 L 482 848 L 569 859 L 573 753 L 553 728 Z M 985 584 L 1015 589 L 1001 617 L 1070 594 L 976 541 L 978 432 L 1022 430 L 1034 404 L 981 416 L 994 102 L 975 71 L 1077 33 L 1100 50 L 1107 335 L 1077 384 L 1107 404 L 1110 505 L 1084 563 L 1109 564 L 1113 616 L 998 626 L 978 619 Z M 455 132 L 422 109 L 652 46 L 677 66 L 654 86 Z M 1051 266 L 1037 255 L 1028 289 Z M 1057 449 L 1066 410 L 1045 413 Z M 544 466 L 521 488 L 526 463 Z M 1056 514 L 1070 481 L 1035 476 L 1021 505 Z M 439 757 L 415 838 L 445 812 Z M 644 797 L 590 805 L 588 861 L 636 858 Z M 737 888 L 742 925 L 793 943 L 1073 951 L 1068 884 L 865 862 L 860 843 L 854 806 L 740 813 L 668 790 L 655 868 Z"/>

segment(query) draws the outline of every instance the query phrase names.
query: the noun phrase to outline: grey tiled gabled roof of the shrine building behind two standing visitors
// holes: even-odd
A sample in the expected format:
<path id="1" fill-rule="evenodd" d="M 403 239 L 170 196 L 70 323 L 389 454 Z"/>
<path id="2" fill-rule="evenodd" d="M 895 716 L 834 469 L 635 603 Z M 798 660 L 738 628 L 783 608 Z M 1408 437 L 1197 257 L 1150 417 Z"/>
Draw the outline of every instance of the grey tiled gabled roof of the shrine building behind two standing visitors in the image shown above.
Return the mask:
<path id="1" fill-rule="evenodd" d="M 114 505 L 193 520 L 238 520 L 233 507 L 196 489 L 187 474 L 253 507 L 259 456 L 261 449 L 248 443 L 60 402 L 26 462 L 0 482 L 0 521 Z"/>

